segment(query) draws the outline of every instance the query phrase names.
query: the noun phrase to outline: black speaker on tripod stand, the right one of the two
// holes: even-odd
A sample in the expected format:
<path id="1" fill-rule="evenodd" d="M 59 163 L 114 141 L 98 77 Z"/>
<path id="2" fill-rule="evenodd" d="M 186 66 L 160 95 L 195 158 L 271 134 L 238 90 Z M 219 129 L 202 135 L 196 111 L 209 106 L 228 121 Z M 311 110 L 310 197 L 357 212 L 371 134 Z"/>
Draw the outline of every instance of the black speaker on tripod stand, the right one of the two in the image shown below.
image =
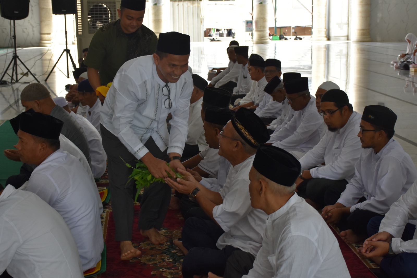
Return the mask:
<path id="1" fill-rule="evenodd" d="M 68 38 L 67 38 L 67 16 L 66 15 L 75 15 L 77 13 L 77 4 L 75 0 L 52 0 L 52 13 L 54 15 L 64 15 L 64 22 L 65 22 L 65 49 L 62 51 L 61 55 L 59 56 L 58 60 L 56 61 L 55 65 L 53 65 L 51 71 L 49 72 L 48 76 L 45 79 L 45 82 L 48 80 L 49 76 L 51 75 L 52 71 L 58 64 L 60 58 L 63 54 L 66 54 L 67 57 L 67 78 L 70 78 L 70 68 L 68 63 L 68 57 L 75 68 L 73 56 L 71 56 L 70 50 L 68 49 Z"/>

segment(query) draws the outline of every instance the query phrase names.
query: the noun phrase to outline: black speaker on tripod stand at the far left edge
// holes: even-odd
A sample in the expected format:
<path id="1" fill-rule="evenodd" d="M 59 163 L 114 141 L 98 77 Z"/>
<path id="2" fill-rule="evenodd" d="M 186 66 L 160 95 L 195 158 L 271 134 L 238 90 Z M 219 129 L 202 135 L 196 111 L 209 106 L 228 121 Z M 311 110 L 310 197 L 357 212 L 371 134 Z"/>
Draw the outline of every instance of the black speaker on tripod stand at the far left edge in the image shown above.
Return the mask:
<path id="1" fill-rule="evenodd" d="M 36 81 L 39 80 L 33 75 L 33 73 L 29 70 L 29 68 L 20 60 L 17 48 L 16 48 L 16 21 L 25 19 L 29 15 L 29 0 L 0 0 L 0 15 L 2 18 L 13 20 L 13 57 L 10 61 L 9 65 L 7 66 L 6 70 L 4 71 L 3 75 L 0 78 L 0 82 L 3 81 L 3 78 L 7 74 L 11 77 L 10 83 L 19 82 L 20 79 L 23 78 L 26 74 L 30 73 Z M 23 74 L 22 77 L 18 78 L 18 61 L 26 68 L 27 72 Z M 8 74 L 7 71 L 9 70 L 10 66 L 12 66 L 12 74 Z M 14 77 L 13 77 L 14 76 Z M 13 82 L 14 81 L 14 82 Z"/>

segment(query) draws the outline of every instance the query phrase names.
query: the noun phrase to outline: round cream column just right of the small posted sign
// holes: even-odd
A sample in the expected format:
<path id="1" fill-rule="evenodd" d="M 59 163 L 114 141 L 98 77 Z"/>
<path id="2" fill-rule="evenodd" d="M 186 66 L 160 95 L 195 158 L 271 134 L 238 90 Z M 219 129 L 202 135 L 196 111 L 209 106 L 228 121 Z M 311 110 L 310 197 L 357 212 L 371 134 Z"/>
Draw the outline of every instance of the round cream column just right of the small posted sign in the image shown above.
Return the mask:
<path id="1" fill-rule="evenodd" d="M 254 1 L 254 43 L 268 43 L 268 0 Z"/>

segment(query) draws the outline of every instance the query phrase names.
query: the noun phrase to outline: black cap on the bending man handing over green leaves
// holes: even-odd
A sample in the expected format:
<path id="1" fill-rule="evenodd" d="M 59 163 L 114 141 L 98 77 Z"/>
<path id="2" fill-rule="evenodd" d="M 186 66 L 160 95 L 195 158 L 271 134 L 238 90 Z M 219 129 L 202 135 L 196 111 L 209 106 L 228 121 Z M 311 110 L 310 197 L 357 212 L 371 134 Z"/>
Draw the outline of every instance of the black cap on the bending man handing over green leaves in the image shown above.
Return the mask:
<path id="1" fill-rule="evenodd" d="M 173 55 L 188 55 L 191 52 L 190 36 L 178 32 L 159 33 L 156 50 Z"/>

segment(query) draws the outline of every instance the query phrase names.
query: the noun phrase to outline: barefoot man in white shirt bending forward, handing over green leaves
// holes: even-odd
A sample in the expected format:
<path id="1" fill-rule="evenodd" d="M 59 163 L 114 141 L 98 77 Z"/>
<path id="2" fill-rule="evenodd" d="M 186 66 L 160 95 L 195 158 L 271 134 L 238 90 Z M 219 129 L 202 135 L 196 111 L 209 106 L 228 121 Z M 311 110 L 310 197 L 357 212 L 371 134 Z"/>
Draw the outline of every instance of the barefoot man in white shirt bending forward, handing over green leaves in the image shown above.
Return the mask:
<path id="1" fill-rule="evenodd" d="M 120 241 L 121 259 L 140 255 L 132 245 L 133 181 L 126 184 L 130 164 L 140 159 L 156 178 L 174 176 L 185 169 L 181 155 L 188 133 L 188 108 L 193 80 L 188 71 L 190 36 L 160 33 L 156 53 L 127 61 L 119 69 L 100 111 L 103 147 L 108 157 L 115 240 Z M 168 133 L 166 118 L 171 132 Z M 123 159 L 123 160 L 122 160 Z M 138 228 L 154 244 L 166 242 L 158 233 L 168 210 L 171 188 L 162 182 L 145 189 Z"/>

